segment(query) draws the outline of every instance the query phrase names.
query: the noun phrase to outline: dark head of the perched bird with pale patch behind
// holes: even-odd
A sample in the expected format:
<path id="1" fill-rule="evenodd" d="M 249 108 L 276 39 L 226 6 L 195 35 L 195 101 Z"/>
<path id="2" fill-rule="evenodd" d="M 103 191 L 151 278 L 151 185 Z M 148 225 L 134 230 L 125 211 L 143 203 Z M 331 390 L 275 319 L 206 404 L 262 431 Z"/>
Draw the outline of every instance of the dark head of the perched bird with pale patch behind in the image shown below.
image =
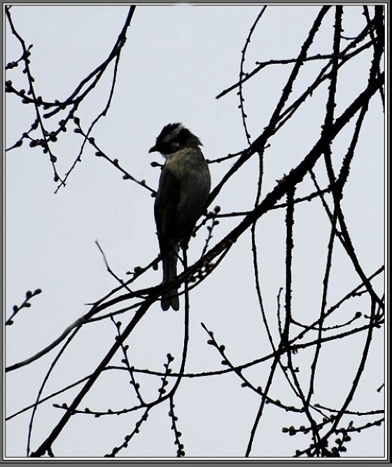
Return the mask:
<path id="1" fill-rule="evenodd" d="M 182 123 L 169 123 L 169 125 L 162 128 L 155 145 L 149 152 L 158 151 L 163 156 L 167 156 L 184 147 L 199 146 L 202 146 L 200 139 L 190 132 L 188 128 L 185 128 Z"/>

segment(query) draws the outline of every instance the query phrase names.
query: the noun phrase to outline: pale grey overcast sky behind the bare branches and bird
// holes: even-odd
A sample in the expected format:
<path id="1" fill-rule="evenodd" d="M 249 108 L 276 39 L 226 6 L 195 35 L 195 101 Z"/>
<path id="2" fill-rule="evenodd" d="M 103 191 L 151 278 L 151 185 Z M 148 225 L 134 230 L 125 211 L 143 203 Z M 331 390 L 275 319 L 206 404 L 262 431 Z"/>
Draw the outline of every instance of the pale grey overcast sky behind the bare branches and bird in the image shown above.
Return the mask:
<path id="1" fill-rule="evenodd" d="M 270 6 L 256 29 L 246 59 L 246 71 L 255 61 L 295 57 L 307 36 L 319 6 Z M 15 27 L 31 49 L 31 72 L 36 93 L 44 100 L 62 100 L 108 55 L 127 17 L 128 6 L 13 6 Z M 116 90 L 106 118 L 94 128 L 93 136 L 111 158 L 138 180 L 146 180 L 154 189 L 160 170 L 151 161 L 162 162 L 159 154 L 148 154 L 155 137 L 167 123 L 180 121 L 202 139 L 206 158 L 214 159 L 246 147 L 236 92 L 216 100 L 224 88 L 237 82 L 241 49 L 261 6 L 138 6 L 127 32 L 127 43 L 120 58 Z M 323 22 L 311 53 L 329 53 L 332 43 L 334 13 Z M 362 9 L 344 7 L 344 34 L 355 36 L 363 28 Z M 6 25 L 6 61 L 17 60 L 20 45 Z M 368 60 L 369 55 L 367 55 Z M 338 88 L 337 114 L 365 88 L 368 61 L 362 57 L 342 69 Z M 304 67 L 304 89 L 321 67 L 318 62 Z M 257 137 L 267 125 L 290 68 L 272 67 L 255 76 L 244 88 L 249 131 Z M 20 69 L 10 70 L 16 88 L 27 89 Z M 78 111 L 83 128 L 102 111 L 111 86 L 111 73 L 99 83 Z M 295 89 L 299 94 L 300 88 Z M 299 163 L 316 142 L 323 122 L 327 88 L 315 93 L 295 119 L 272 138 L 265 158 L 264 196 L 276 180 Z M 344 197 L 346 222 L 365 270 L 370 274 L 384 264 L 384 127 L 379 96 L 370 104 L 361 135 L 358 156 L 354 158 Z M 6 145 L 13 144 L 34 120 L 32 106 L 22 105 L 14 95 L 7 97 Z M 80 135 L 64 133 L 53 150 L 57 168 L 66 172 L 78 154 Z M 353 127 L 350 126 L 352 129 Z M 51 128 L 49 128 L 51 129 Z M 53 128 L 54 129 L 54 128 Z M 343 132 L 334 146 L 334 156 L 342 160 L 351 136 Z M 341 146 L 339 146 L 341 144 Z M 123 180 L 116 168 L 94 156 L 88 147 L 83 161 L 69 177 L 66 188 L 54 191 L 48 156 L 27 144 L 6 155 L 6 316 L 20 304 L 27 290 L 41 288 L 43 293 L 23 309 L 15 324 L 7 328 L 7 364 L 24 360 L 53 341 L 74 320 L 85 313 L 88 303 L 116 287 L 116 280 L 106 272 L 102 255 L 94 244 L 98 240 L 113 271 L 125 278 L 126 271 L 144 266 L 158 254 L 153 219 L 153 198 L 146 189 Z M 214 187 L 232 164 L 210 165 Z M 321 165 L 322 168 L 322 165 Z M 323 170 L 320 168 L 320 180 Z M 257 182 L 257 161 L 232 177 L 215 204 L 224 212 L 248 210 L 253 206 Z M 312 191 L 304 181 L 298 196 Z M 212 208 L 212 206 L 211 206 Z M 267 315 L 276 320 L 276 296 L 284 286 L 284 210 L 276 210 L 260 220 L 260 271 Z M 325 245 L 330 223 L 321 203 L 306 203 L 297 209 L 295 222 L 293 309 L 302 322 L 316 320 L 321 302 L 325 267 Z M 221 219 L 214 231 L 214 243 L 237 223 Z M 202 251 L 206 231 L 193 239 L 188 252 L 194 262 Z M 221 357 L 206 344 L 203 322 L 215 332 L 216 339 L 228 348 L 235 364 L 246 363 L 269 352 L 262 326 L 257 297 L 253 291 L 251 237 L 247 233 L 230 250 L 221 266 L 191 293 L 190 348 L 187 372 L 221 368 Z M 337 252 L 342 252 L 337 247 Z M 359 278 L 344 254 L 336 255 L 328 302 L 335 303 L 359 284 Z M 139 287 L 158 285 L 161 269 L 141 278 Z M 375 282 L 381 294 L 382 278 Z M 348 320 L 365 302 L 357 299 L 358 308 L 348 307 L 342 322 Z M 120 319 L 127 323 L 131 315 Z M 163 370 L 168 352 L 181 362 L 183 341 L 181 312 L 163 313 L 154 304 L 132 334 L 130 356 L 139 368 Z M 108 321 L 83 327 L 52 373 L 45 394 L 88 374 L 113 342 L 114 327 Z M 275 337 L 278 334 L 274 329 Z M 363 348 L 363 335 L 349 341 L 334 341 L 321 356 L 323 372 L 316 381 L 315 401 L 334 407 L 346 396 L 351 374 L 356 369 Z M 347 356 L 347 345 L 350 355 Z M 329 351 L 329 352 L 328 352 Z M 376 393 L 383 383 L 384 340 L 377 331 L 372 342 L 370 362 L 362 388 L 352 410 L 384 407 L 384 392 Z M 6 408 L 8 414 L 34 402 L 48 365 L 55 353 L 7 376 Z M 302 367 L 311 362 L 302 353 Z M 312 353 L 309 353 L 311 358 Z M 353 361 L 354 356 L 358 358 Z M 118 362 L 120 358 L 118 358 Z M 175 369 L 178 367 L 174 367 Z M 258 365 L 247 372 L 256 386 L 265 386 L 269 365 Z M 354 373 L 353 373 L 354 374 Z M 151 377 L 140 377 L 141 386 L 151 398 L 156 385 Z M 144 384 L 145 382 L 145 384 Z M 281 384 L 279 384 L 279 382 Z M 259 399 L 241 388 L 235 375 L 204 379 L 183 379 L 176 396 L 176 415 L 187 456 L 243 456 Z M 134 402 L 127 376 L 120 372 L 105 374 L 83 400 L 81 407 L 95 410 L 119 410 Z M 154 392 L 155 391 L 155 392 Z M 72 400 L 76 391 L 62 394 L 52 402 Z M 282 375 L 270 396 L 296 404 Z M 155 407 L 141 433 L 125 456 L 175 456 L 174 434 L 169 427 L 168 405 Z M 269 408 L 255 439 L 254 456 L 292 456 L 304 447 L 301 435 L 281 433 L 282 426 L 299 426 L 304 417 L 286 418 L 276 407 Z M 50 404 L 38 410 L 32 448 L 41 444 L 62 411 Z M 138 414 L 94 419 L 74 417 L 55 443 L 57 456 L 103 456 L 134 426 Z M 289 421 L 288 421 L 289 420 Z M 25 456 L 29 413 L 8 422 L 6 454 Z M 88 433 L 88 434 L 87 434 Z M 348 456 L 382 456 L 384 426 L 352 436 Z"/>

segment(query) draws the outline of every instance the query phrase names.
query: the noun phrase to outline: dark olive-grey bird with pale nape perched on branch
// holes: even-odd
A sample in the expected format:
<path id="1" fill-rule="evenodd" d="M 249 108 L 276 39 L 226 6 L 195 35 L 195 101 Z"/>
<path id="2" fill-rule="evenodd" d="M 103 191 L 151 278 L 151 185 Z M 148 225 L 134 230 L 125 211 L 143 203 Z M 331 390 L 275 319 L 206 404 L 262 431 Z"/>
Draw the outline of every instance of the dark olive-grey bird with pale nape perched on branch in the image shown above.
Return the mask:
<path id="1" fill-rule="evenodd" d="M 154 205 L 164 284 L 177 276 L 179 245 L 186 248 L 209 196 L 211 177 L 200 146 L 200 139 L 182 123 L 170 123 L 149 151 L 166 159 Z M 162 294 L 161 306 L 164 311 L 179 309 L 176 287 Z"/>

